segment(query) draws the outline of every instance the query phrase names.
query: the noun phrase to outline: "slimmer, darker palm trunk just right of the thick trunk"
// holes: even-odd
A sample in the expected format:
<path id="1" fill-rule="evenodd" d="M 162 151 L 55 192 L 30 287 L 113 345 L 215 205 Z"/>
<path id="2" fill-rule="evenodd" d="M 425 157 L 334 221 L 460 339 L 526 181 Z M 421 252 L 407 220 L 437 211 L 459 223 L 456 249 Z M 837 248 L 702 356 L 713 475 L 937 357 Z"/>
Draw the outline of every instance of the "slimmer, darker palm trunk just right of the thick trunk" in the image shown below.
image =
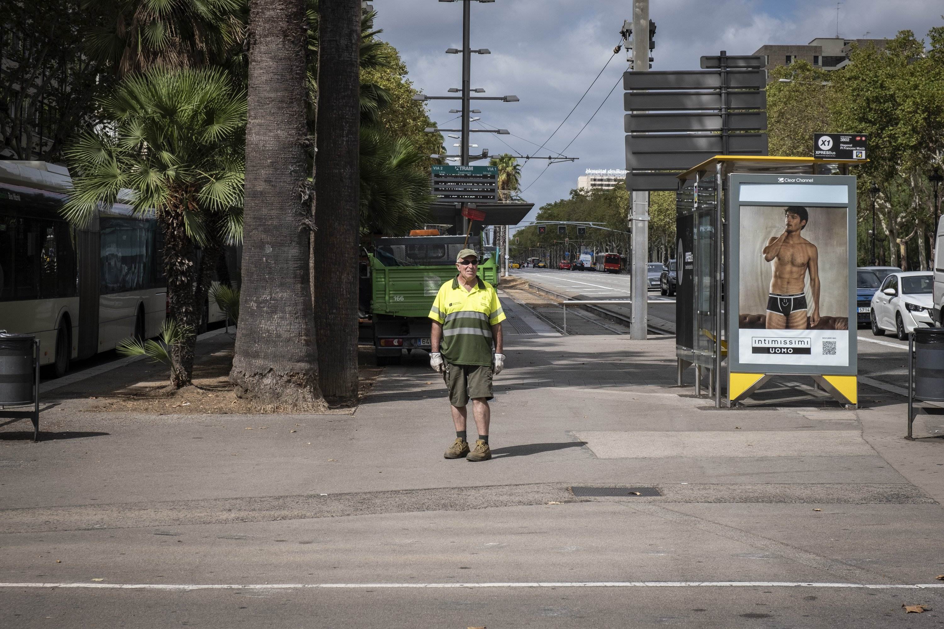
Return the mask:
<path id="1" fill-rule="evenodd" d="M 315 329 L 321 389 L 357 399 L 361 3 L 321 11 L 314 183 Z"/>

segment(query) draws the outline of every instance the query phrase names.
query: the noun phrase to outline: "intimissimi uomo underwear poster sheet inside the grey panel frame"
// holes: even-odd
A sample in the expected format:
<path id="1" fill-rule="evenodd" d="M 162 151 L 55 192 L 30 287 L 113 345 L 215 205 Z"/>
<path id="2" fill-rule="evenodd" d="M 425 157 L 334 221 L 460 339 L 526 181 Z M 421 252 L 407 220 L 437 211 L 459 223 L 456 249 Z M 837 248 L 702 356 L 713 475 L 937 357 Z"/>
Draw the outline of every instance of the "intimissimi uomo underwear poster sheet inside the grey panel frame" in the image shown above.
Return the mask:
<path id="1" fill-rule="evenodd" d="M 740 361 L 848 366 L 848 208 L 740 211 Z"/>

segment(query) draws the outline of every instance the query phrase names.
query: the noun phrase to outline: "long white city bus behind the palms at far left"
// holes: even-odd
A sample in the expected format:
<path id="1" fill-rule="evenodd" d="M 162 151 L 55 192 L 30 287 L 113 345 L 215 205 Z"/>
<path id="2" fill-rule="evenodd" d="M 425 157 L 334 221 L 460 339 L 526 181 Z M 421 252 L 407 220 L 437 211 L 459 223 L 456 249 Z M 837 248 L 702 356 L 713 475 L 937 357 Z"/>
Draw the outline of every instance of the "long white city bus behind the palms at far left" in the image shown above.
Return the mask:
<path id="1" fill-rule="evenodd" d="M 59 213 L 71 188 L 64 167 L 0 161 L 0 330 L 36 335 L 41 364 L 57 375 L 121 339 L 157 336 L 167 312 L 154 213 L 116 203 L 76 229 Z M 241 253 L 227 247 L 228 277 L 214 269 L 214 283 L 239 285 Z M 225 318 L 208 300 L 198 331 Z"/>

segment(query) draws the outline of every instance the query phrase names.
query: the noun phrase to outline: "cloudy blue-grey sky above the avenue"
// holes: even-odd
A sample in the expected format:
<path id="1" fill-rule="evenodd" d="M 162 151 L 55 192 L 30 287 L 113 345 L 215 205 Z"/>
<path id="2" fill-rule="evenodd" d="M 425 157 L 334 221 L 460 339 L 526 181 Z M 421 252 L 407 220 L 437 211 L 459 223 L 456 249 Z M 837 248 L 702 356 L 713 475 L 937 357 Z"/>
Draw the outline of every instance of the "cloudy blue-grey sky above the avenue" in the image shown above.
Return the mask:
<path id="1" fill-rule="evenodd" d="M 447 95 L 448 88 L 461 87 L 461 56 L 444 54 L 447 48 L 462 48 L 461 2 L 371 1 L 384 30 L 380 37 L 400 51 L 419 90 Z M 923 37 L 930 26 L 942 25 L 941 13 L 940 0 L 846 0 L 839 5 L 838 31 L 847 39 L 867 33 L 869 38 L 890 38 L 902 29 Z M 658 26 L 653 70 L 695 70 L 701 55 L 719 50 L 750 55 L 766 43 L 806 43 L 836 34 L 836 5 L 819 0 L 650 0 L 649 16 Z M 631 18 L 632 0 L 473 2 L 471 46 L 492 54 L 473 55 L 472 87 L 484 88 L 485 96 L 515 94 L 521 100 L 481 101 L 473 107 L 481 109 L 482 123 L 507 128 L 514 136 L 473 134 L 480 148 L 472 152 L 488 148 L 492 155 L 537 155 L 538 145 L 548 141 L 612 57 L 623 20 Z M 535 204 L 528 219 L 543 204 L 566 197 L 586 169 L 625 168 L 622 86 L 606 96 L 627 66 L 626 53 L 620 51 L 540 151 L 546 157 L 569 143 L 566 155 L 580 157 L 578 161 L 549 167 L 547 160 L 523 164 L 521 187 Z M 450 108 L 458 103 L 430 101 L 430 118 L 442 127 L 458 128 L 458 120 L 447 124 L 455 117 Z M 447 138 L 447 148 L 453 142 Z"/>

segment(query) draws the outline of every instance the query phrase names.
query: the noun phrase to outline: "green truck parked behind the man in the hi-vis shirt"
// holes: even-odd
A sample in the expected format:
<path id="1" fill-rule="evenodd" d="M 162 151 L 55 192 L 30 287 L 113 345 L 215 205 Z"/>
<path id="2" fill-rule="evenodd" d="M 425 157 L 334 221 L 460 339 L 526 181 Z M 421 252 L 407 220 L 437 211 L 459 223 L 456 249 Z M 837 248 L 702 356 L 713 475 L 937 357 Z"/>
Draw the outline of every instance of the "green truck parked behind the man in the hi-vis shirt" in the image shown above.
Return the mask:
<path id="1" fill-rule="evenodd" d="M 464 246 L 464 236 L 375 240 L 362 267 L 361 301 L 370 313 L 378 365 L 399 364 L 403 350 L 430 351 L 430 306 L 439 287 L 456 276 Z M 483 252 L 479 238 L 469 238 L 467 246 L 480 255 L 479 277 L 497 287 L 494 251 Z"/>

